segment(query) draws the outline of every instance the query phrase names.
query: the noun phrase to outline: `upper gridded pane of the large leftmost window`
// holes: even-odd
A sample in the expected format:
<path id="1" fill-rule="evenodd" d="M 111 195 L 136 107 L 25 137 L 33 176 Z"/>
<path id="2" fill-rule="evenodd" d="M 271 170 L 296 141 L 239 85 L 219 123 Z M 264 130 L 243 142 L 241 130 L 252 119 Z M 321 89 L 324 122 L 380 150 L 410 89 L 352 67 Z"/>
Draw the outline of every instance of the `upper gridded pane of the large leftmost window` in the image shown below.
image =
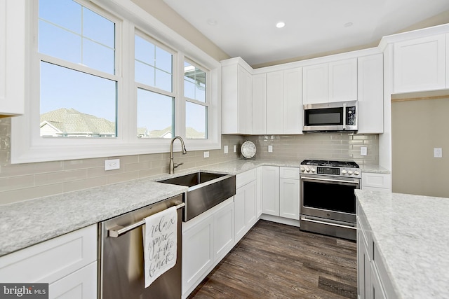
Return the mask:
<path id="1" fill-rule="evenodd" d="M 114 43 L 114 22 L 74 1 L 39 1 L 40 53 L 114 74 Z"/>

